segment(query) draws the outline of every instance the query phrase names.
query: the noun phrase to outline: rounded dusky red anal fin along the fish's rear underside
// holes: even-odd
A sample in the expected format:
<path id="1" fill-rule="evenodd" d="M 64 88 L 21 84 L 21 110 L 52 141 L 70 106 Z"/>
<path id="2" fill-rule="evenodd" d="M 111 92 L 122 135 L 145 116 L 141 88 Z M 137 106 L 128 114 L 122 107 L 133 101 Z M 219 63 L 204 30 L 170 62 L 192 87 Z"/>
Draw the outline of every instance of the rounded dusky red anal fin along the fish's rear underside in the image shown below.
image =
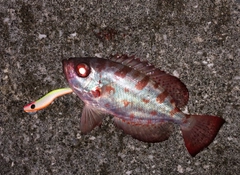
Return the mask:
<path id="1" fill-rule="evenodd" d="M 170 122 L 159 122 L 154 124 L 139 124 L 114 117 L 115 125 L 131 135 L 133 138 L 143 142 L 162 142 L 167 140 L 173 131 Z"/>

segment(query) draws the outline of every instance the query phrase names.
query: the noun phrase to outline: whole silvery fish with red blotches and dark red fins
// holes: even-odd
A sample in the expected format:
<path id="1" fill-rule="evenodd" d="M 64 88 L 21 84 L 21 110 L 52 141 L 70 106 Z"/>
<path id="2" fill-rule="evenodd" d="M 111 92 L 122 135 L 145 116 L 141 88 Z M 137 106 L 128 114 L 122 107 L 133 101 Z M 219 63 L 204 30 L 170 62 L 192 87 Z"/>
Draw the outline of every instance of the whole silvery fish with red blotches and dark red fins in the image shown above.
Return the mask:
<path id="1" fill-rule="evenodd" d="M 112 115 L 124 133 L 149 143 L 167 140 L 178 125 L 194 157 L 225 123 L 218 116 L 184 114 L 180 108 L 189 99 L 186 85 L 134 56 L 75 57 L 62 63 L 69 87 L 85 104 L 80 118 L 83 134 L 100 126 L 105 114 Z"/>

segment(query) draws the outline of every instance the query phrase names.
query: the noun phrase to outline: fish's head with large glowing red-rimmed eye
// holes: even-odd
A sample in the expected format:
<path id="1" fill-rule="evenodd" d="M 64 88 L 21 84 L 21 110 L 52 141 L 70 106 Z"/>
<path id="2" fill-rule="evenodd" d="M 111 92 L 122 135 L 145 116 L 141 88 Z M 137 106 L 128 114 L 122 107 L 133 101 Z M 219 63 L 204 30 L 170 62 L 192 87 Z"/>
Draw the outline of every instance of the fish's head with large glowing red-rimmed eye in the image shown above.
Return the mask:
<path id="1" fill-rule="evenodd" d="M 92 91 L 99 86 L 100 74 L 95 69 L 96 58 L 64 59 L 63 71 L 72 90 L 83 100 L 92 99 Z"/>

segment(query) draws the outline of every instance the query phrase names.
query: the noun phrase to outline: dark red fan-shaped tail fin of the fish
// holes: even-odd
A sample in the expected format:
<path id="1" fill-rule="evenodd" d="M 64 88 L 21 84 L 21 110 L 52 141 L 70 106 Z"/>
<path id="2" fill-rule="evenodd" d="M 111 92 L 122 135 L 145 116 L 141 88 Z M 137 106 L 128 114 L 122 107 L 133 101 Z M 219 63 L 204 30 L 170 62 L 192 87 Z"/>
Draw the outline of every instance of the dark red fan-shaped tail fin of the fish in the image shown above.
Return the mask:
<path id="1" fill-rule="evenodd" d="M 185 146 L 195 156 L 216 137 L 225 120 L 210 115 L 187 115 L 187 122 L 181 125 Z"/>

